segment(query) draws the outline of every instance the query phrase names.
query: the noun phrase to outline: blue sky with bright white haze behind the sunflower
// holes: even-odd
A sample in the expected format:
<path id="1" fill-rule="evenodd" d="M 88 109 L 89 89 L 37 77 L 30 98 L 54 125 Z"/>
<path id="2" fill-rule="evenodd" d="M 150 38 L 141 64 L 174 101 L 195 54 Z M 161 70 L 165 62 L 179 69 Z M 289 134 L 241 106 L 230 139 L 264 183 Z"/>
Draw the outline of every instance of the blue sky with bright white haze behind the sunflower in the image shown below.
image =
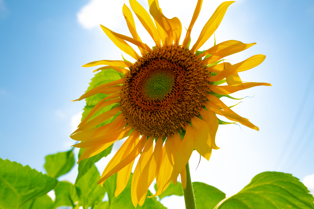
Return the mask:
<path id="1" fill-rule="evenodd" d="M 148 8 L 147 1 L 139 2 Z M 167 17 L 176 16 L 187 27 L 196 2 L 159 3 Z M 192 30 L 192 44 L 221 2 L 203 1 Z M 85 102 L 70 100 L 86 91 L 93 77 L 93 69 L 81 65 L 121 59 L 121 51 L 99 24 L 130 35 L 122 16 L 123 3 L 129 5 L 123 0 L 0 0 L 0 158 L 44 172 L 45 155 L 68 150 L 73 144 L 69 135 Z M 142 40 L 153 46 L 135 20 Z M 231 39 L 257 42 L 227 59 L 236 63 L 255 54 L 266 55 L 261 65 L 240 76 L 242 81 L 273 86 L 232 95 L 249 96 L 234 111 L 249 118 L 260 131 L 220 125 L 216 141 L 221 149 L 214 150 L 209 162 L 202 159 L 194 171 L 199 155 L 192 154 L 192 181 L 203 181 L 230 196 L 253 176 L 271 170 L 292 173 L 314 191 L 313 34 L 311 0 L 240 0 L 229 7 L 215 33 L 217 43 Z M 213 43 L 213 38 L 209 39 L 203 49 Z M 224 102 L 237 103 L 230 99 Z M 97 163 L 100 170 L 106 160 Z M 75 168 L 64 178 L 73 180 L 74 176 Z"/>

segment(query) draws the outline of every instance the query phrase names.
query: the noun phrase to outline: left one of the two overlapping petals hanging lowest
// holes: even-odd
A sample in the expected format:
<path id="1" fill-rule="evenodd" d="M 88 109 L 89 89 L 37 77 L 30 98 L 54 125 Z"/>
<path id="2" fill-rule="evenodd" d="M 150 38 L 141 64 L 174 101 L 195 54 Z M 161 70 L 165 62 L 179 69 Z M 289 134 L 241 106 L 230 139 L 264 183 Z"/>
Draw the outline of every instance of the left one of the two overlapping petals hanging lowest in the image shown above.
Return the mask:
<path id="1" fill-rule="evenodd" d="M 138 199 L 136 196 L 136 188 L 137 188 L 137 184 L 138 184 L 138 179 L 139 179 L 139 176 L 142 173 L 145 165 L 147 164 L 147 162 L 149 161 L 150 157 L 153 154 L 153 142 L 154 142 L 154 139 L 152 136 L 150 136 L 147 140 L 147 143 L 143 149 L 143 152 L 142 152 L 140 158 L 138 159 L 138 164 L 136 165 L 133 176 L 132 176 L 131 198 L 132 198 L 132 203 L 133 203 L 134 207 L 136 207 L 138 204 Z"/>

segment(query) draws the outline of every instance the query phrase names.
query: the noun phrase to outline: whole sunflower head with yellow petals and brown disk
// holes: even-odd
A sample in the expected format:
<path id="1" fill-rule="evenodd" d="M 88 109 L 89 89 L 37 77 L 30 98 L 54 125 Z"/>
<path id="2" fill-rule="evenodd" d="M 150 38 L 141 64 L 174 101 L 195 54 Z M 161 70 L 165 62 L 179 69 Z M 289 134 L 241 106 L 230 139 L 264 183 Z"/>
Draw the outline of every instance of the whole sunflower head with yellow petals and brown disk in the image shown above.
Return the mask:
<path id="1" fill-rule="evenodd" d="M 127 185 L 134 160 L 140 154 L 131 186 L 135 207 L 137 204 L 143 205 L 155 178 L 158 189 L 153 196 L 165 191 L 171 181 L 176 184 L 179 174 L 182 187 L 186 188 L 186 165 L 192 151 L 195 149 L 209 160 L 212 149 L 219 149 L 215 144 L 215 135 L 218 125 L 223 122 L 216 115 L 258 130 L 248 119 L 227 107 L 220 97 L 230 97 L 231 93 L 253 86 L 271 86 L 268 83 L 242 82 L 238 75 L 262 63 L 265 55 L 254 55 L 235 65 L 223 59 L 256 43 L 229 40 L 215 44 L 208 50 L 197 51 L 214 34 L 233 1 L 219 5 L 191 49 L 190 34 L 203 1 L 198 0 L 181 45 L 180 20 L 176 17 L 166 18 L 157 0 L 148 2 L 154 22 L 136 0 L 130 0 L 130 5 L 154 40 L 156 46 L 153 48 L 141 41 L 131 10 L 125 4 L 122 11 L 133 38 L 100 25 L 113 43 L 136 61 L 100 60 L 83 65 L 107 65 L 95 71 L 111 68 L 123 77 L 97 86 L 77 99 L 99 93 L 109 95 L 93 107 L 71 135 L 74 140 L 82 141 L 74 147 L 86 148 L 78 162 L 128 136 L 106 166 L 98 184 L 103 185 L 108 177 L 117 173 L 115 196 L 118 196 Z M 126 41 L 138 46 L 141 55 Z M 221 86 L 223 83 L 227 85 Z M 115 108 L 91 119 L 102 108 L 114 103 L 118 103 Z M 112 123 L 99 126 L 112 117 L 116 117 Z"/>

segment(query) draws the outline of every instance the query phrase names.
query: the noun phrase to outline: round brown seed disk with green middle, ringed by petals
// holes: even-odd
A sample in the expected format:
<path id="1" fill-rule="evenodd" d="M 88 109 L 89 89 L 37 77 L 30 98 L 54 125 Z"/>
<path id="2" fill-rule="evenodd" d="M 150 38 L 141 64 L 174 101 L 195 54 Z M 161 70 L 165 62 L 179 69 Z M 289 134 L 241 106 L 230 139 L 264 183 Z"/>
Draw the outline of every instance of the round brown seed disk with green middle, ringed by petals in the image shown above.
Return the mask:
<path id="1" fill-rule="evenodd" d="M 138 59 L 124 76 L 122 114 L 141 134 L 168 136 L 204 106 L 208 72 L 181 46 L 162 46 Z"/>

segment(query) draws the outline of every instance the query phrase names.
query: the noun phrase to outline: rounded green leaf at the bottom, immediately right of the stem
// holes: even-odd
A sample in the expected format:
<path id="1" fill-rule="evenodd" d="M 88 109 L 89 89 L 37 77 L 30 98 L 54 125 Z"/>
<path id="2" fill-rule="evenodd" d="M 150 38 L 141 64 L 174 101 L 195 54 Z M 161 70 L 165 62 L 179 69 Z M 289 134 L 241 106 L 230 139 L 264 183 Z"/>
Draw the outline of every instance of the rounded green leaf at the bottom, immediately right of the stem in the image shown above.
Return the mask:
<path id="1" fill-rule="evenodd" d="M 226 195 L 214 186 L 193 182 L 195 205 L 198 209 L 214 208 Z"/>

